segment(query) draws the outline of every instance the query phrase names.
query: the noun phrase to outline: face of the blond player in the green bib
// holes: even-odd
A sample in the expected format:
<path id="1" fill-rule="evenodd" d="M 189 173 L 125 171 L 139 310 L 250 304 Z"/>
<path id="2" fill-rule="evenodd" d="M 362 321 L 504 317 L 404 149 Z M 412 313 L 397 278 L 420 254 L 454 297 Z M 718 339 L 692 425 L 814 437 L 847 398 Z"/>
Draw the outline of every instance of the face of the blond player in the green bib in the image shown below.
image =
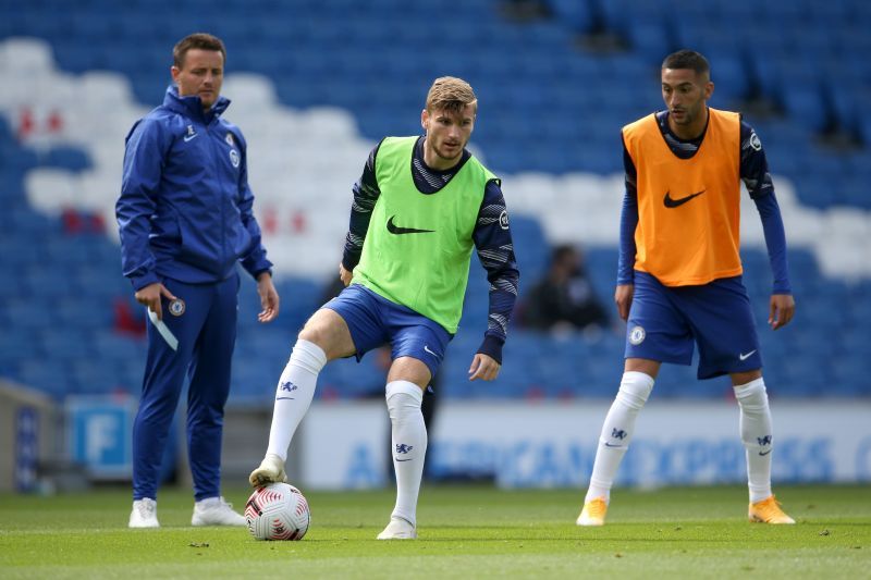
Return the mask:
<path id="1" fill-rule="evenodd" d="M 467 104 L 458 113 L 425 109 L 420 123 L 427 132 L 425 161 L 432 169 L 451 169 L 459 161 L 475 128 L 475 106 Z"/>

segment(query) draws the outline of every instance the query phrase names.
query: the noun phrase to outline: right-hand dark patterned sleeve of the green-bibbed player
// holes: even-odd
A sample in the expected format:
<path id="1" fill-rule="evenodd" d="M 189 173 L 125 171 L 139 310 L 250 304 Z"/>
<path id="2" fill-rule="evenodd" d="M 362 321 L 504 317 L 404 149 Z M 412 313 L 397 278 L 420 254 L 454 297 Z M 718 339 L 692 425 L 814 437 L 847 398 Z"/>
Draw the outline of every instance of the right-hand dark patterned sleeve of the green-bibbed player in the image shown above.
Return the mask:
<path id="1" fill-rule="evenodd" d="M 478 353 L 493 358 L 501 365 L 502 346 L 505 344 L 508 321 L 517 301 L 520 272 L 514 257 L 505 197 L 496 180 L 487 184 L 471 237 L 478 250 L 478 259 L 487 270 L 487 280 L 490 282 L 487 332 Z"/>

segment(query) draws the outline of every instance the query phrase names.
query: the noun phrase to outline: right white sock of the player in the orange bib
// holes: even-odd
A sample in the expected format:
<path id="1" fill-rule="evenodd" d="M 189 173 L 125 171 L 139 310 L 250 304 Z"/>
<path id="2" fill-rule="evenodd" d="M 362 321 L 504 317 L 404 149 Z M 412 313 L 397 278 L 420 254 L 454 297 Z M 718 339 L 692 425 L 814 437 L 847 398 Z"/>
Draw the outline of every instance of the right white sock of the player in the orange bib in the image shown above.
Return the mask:
<path id="1" fill-rule="evenodd" d="M 750 502 L 771 495 L 772 427 L 765 382 L 760 377 L 747 384 L 735 385 L 735 398 L 741 409 L 741 442 L 747 453 L 747 484 Z"/>

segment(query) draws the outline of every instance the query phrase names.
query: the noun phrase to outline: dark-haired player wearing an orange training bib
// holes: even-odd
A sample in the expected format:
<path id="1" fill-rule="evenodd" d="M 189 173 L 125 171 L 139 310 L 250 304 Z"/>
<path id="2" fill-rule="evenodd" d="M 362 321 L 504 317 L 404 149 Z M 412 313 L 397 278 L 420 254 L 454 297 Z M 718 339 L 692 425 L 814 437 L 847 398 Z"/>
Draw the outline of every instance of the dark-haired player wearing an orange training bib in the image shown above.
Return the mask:
<path id="1" fill-rule="evenodd" d="M 694 343 L 699 379 L 732 379 L 750 520 L 795 523 L 771 491 L 771 412 L 738 256 L 740 182 L 762 218 L 774 273 L 773 330 L 795 311 L 783 221 L 759 137 L 738 113 L 708 107 L 713 90 L 704 57 L 690 50 L 670 54 L 662 63 L 667 109 L 623 128 L 626 195 L 614 299 L 627 321 L 626 360 L 578 526 L 604 523 L 611 486 L 660 366 L 690 365 Z"/>

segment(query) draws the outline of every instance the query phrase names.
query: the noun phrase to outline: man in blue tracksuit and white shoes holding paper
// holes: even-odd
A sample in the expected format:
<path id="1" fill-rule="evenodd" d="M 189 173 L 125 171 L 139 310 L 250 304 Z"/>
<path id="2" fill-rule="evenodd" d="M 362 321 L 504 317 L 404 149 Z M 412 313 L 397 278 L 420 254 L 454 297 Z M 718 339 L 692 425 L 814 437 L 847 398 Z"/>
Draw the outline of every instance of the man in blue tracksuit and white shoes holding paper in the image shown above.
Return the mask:
<path id="1" fill-rule="evenodd" d="M 257 280 L 260 322 L 279 312 L 252 212 L 245 139 L 221 119 L 226 51 L 194 34 L 173 49 L 174 86 L 126 138 L 115 214 L 124 275 L 148 308 L 148 359 L 133 427 L 131 528 L 157 528 L 160 464 L 185 377 L 194 526 L 244 526 L 221 496 L 221 434 L 236 340 L 236 262 Z"/>

